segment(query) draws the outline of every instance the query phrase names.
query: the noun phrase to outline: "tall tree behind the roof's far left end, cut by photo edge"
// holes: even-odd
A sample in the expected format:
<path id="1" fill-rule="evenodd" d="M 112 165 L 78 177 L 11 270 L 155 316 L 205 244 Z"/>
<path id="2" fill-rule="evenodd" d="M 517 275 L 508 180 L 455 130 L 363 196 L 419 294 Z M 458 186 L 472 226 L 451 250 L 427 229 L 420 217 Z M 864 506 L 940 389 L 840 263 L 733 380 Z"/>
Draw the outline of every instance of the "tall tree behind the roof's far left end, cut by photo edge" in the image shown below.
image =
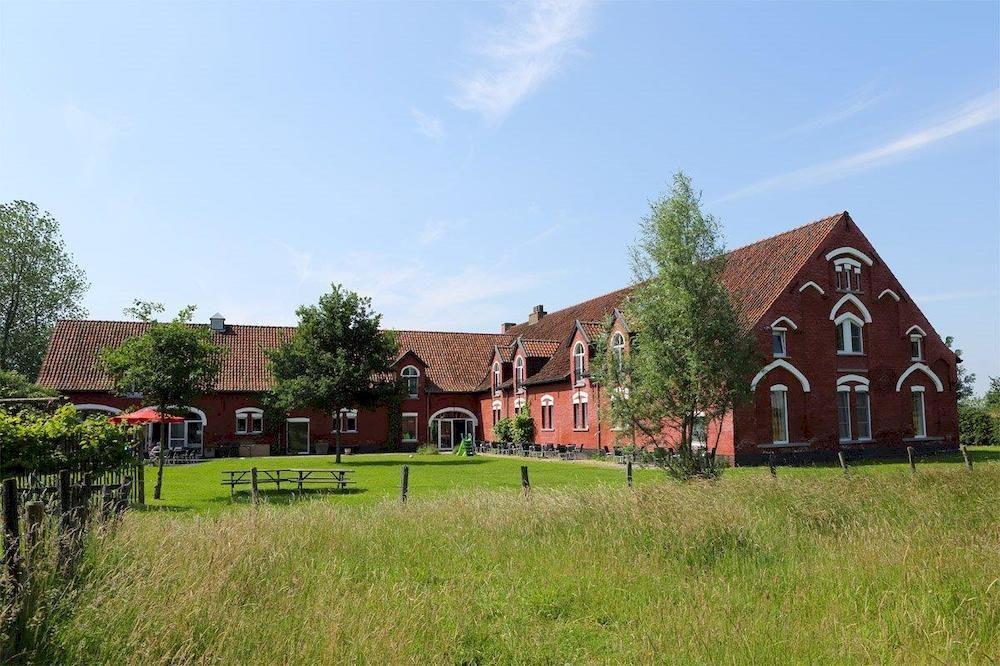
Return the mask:
<path id="1" fill-rule="evenodd" d="M 86 315 L 87 286 L 51 215 L 0 204 L 0 370 L 37 376 L 56 319 Z"/>

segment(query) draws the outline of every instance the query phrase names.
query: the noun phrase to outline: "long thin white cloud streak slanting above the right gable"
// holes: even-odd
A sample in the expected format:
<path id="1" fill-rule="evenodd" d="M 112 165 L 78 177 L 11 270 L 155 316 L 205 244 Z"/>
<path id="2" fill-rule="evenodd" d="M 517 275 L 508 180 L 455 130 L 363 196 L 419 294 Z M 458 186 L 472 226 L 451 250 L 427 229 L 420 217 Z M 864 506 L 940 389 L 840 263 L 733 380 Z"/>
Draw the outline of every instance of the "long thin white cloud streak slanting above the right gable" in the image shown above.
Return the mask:
<path id="1" fill-rule="evenodd" d="M 995 90 L 988 95 L 979 97 L 946 118 L 883 145 L 847 157 L 759 180 L 747 187 L 730 192 L 712 203 L 741 199 L 779 188 L 830 182 L 913 156 L 935 143 L 995 123 L 1000 119 L 998 92 L 1000 91 Z"/>

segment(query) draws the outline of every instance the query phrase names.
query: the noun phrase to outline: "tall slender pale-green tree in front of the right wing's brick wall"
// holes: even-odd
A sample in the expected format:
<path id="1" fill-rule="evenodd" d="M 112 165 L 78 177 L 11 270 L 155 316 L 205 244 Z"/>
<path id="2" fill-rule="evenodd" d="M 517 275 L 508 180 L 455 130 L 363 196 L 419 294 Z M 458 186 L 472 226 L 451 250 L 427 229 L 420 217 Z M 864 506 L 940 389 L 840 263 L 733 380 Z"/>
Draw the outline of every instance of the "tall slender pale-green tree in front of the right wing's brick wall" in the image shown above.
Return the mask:
<path id="1" fill-rule="evenodd" d="M 718 222 L 702 213 L 701 196 L 678 172 L 631 248 L 635 287 L 622 308 L 635 331 L 631 347 L 619 363 L 599 345 L 592 364 L 609 389 L 613 421 L 647 444 L 673 440 L 672 469 L 683 478 L 717 473 L 713 457 L 694 454 L 694 430 L 700 420 L 721 423 L 749 398 L 756 367 L 753 340 L 722 283 L 724 252 Z"/>

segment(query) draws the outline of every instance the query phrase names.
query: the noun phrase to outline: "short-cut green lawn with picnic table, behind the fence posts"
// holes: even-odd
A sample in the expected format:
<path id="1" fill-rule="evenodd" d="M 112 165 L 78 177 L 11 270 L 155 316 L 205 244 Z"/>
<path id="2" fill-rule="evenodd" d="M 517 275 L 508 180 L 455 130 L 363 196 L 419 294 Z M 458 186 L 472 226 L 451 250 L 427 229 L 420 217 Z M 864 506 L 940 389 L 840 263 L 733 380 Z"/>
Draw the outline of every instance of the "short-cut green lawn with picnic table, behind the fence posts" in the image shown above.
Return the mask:
<path id="1" fill-rule="evenodd" d="M 1000 460 L 1000 449 L 980 448 L 971 453 L 974 464 Z M 935 456 L 919 463 L 921 469 L 958 466 L 961 456 Z M 595 485 L 621 486 L 625 471 L 620 465 L 597 464 L 589 461 L 562 462 L 558 460 L 525 459 L 509 456 L 475 456 L 459 458 L 453 455 L 380 454 L 344 456 L 340 467 L 354 470 L 352 478 L 357 484 L 348 492 L 323 490 L 313 486 L 305 497 L 322 499 L 343 505 L 370 504 L 387 497 L 398 497 L 399 472 L 402 465 L 410 466 L 410 497 L 428 497 L 449 490 L 511 490 L 521 488 L 521 465 L 527 465 L 532 487 L 535 489 L 560 489 L 567 487 L 593 487 Z M 244 487 L 235 498 L 228 487 L 222 485 L 223 470 L 279 468 L 336 467 L 333 456 L 281 456 L 267 458 L 224 458 L 192 465 L 169 466 L 164 471 L 163 499 L 153 501 L 156 483 L 155 467 L 146 468 L 146 497 L 150 510 L 217 513 L 249 503 L 249 489 Z M 906 463 L 867 463 L 852 466 L 852 474 L 882 474 L 906 469 Z M 766 467 L 743 467 L 727 470 L 730 476 L 766 476 Z M 792 478 L 838 475 L 836 466 L 782 467 L 779 475 Z M 655 469 L 634 472 L 636 484 L 661 479 L 663 473 Z M 262 485 L 265 501 L 287 504 L 301 499 L 298 493 L 273 485 Z"/>

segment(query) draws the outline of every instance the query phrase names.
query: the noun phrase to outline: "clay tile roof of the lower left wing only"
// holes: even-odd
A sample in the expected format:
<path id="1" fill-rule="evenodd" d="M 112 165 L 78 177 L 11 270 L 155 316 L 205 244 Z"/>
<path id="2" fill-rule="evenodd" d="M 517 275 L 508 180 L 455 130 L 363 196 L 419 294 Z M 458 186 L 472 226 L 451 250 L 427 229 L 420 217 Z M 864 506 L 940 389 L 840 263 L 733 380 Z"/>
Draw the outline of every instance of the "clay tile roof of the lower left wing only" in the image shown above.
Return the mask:
<path id="1" fill-rule="evenodd" d="M 98 352 L 139 335 L 148 324 L 136 321 L 63 320 L 56 323 L 38 383 L 60 391 L 107 391 L 111 380 L 97 367 Z M 232 324 L 225 333 L 213 333 L 216 344 L 228 350 L 215 383 L 217 391 L 264 391 L 271 386 L 264 350 L 292 334 L 288 326 Z M 428 364 L 431 391 L 474 391 L 482 379 L 496 344 L 510 344 L 507 335 L 396 331 L 400 349 L 413 350 Z"/>

